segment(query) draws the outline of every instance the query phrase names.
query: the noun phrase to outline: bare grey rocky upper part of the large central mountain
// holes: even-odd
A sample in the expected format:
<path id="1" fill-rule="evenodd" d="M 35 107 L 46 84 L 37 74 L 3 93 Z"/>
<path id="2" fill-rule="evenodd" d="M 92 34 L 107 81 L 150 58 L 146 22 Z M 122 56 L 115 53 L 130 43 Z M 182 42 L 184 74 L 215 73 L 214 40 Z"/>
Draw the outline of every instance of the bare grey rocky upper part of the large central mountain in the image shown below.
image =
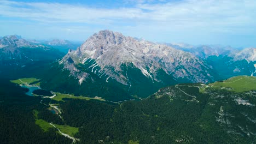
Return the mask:
<path id="1" fill-rule="evenodd" d="M 121 65 L 129 63 L 141 70 L 144 76 L 152 79 L 152 82 L 161 82 L 156 78 L 156 71 L 159 69 L 175 79 L 187 78 L 191 82 L 212 80 L 208 71 L 211 68 L 189 52 L 146 40 L 138 41 L 108 30 L 92 35 L 76 51 L 69 51 L 61 63 L 68 59 L 77 64 L 94 59 L 92 72 L 104 70 L 107 79 L 115 79 L 124 85 L 129 85 L 129 77 L 121 73 Z"/>

